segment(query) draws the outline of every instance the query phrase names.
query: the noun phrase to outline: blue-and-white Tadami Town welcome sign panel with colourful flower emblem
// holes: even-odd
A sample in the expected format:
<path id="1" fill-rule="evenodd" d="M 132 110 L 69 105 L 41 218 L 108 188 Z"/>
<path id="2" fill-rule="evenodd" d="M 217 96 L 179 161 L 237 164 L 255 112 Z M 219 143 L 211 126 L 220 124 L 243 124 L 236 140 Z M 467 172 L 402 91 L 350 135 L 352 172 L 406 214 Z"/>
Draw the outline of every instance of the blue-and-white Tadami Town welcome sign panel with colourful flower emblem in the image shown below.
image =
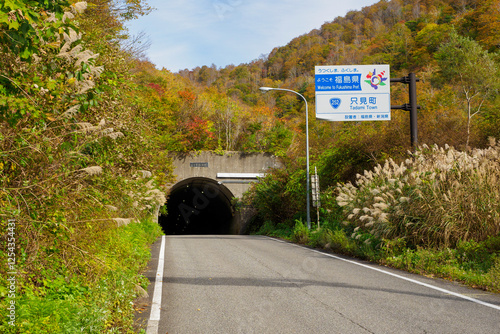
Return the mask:
<path id="1" fill-rule="evenodd" d="M 316 66 L 315 87 L 318 119 L 391 119 L 389 65 Z"/>

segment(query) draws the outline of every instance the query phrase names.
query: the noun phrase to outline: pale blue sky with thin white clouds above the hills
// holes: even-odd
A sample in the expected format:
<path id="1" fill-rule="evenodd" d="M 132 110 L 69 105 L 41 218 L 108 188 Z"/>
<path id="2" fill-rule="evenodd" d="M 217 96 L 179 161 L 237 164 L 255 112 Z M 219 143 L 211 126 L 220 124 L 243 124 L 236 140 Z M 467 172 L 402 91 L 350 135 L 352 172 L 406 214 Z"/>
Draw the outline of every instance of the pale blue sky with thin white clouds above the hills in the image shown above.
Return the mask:
<path id="1" fill-rule="evenodd" d="M 127 23 L 143 32 L 147 58 L 172 72 L 250 63 L 325 22 L 378 0 L 147 0 L 156 8 Z"/>

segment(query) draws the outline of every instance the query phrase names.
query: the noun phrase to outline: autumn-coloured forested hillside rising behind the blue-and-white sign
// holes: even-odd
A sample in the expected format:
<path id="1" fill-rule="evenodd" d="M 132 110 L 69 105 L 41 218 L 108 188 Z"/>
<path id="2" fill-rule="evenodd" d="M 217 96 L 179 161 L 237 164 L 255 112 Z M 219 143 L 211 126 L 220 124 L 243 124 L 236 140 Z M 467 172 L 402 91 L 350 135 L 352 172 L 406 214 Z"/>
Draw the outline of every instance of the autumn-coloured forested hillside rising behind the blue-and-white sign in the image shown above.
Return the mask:
<path id="1" fill-rule="evenodd" d="M 305 142 L 303 102 L 293 94 L 262 94 L 258 88 L 296 90 L 307 98 L 312 111 L 315 65 L 372 63 L 390 64 L 392 77 L 414 72 L 420 79 L 417 88 L 418 104 L 422 107 L 418 116 L 420 144 L 485 147 L 488 137 L 499 135 L 495 95 L 499 18 L 498 1 L 380 1 L 335 18 L 321 29 L 299 36 L 249 64 L 219 69 L 202 66 L 179 74 L 196 87 L 193 92 L 200 101 L 205 94 L 218 94 L 241 108 L 257 110 L 252 112 L 254 116 L 265 115 L 266 110 L 274 116 L 249 119 L 236 112 L 227 118 L 225 125 L 239 130 L 226 135 L 217 120 L 220 113 L 214 114 L 209 106 L 202 108 L 198 115 L 214 124 L 211 135 L 217 138 L 217 144 L 212 141 L 206 146 L 209 149 L 260 149 L 298 161 L 297 158 L 303 157 Z M 454 53 L 447 52 L 444 45 L 463 53 L 452 57 Z M 405 85 L 393 84 L 391 91 L 392 104 L 408 102 Z M 347 173 L 351 179 L 387 154 L 404 155 L 410 148 L 407 112 L 393 111 L 391 122 L 363 124 L 316 121 L 312 113 L 309 124 L 313 156 L 321 155 L 325 148 L 350 146 L 351 150 L 346 149 L 357 151 L 357 161 L 366 161 L 357 171 Z M 286 141 L 278 151 L 274 145 L 262 145 L 269 142 L 267 136 L 275 137 L 264 131 L 264 119 L 283 124 L 279 127 L 279 138 Z M 260 145 L 255 145 L 254 139 Z M 221 145 L 231 141 L 234 145 Z"/>

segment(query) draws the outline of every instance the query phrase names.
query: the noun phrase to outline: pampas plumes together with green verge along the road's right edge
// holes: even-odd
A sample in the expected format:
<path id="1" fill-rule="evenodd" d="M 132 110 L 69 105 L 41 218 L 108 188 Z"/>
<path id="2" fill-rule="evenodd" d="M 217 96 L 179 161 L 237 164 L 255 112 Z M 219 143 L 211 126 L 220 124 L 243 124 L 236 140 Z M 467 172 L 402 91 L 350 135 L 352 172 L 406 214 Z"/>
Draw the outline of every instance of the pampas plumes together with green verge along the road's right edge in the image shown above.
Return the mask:
<path id="1" fill-rule="evenodd" d="M 322 193 L 324 222 L 260 233 L 500 292 L 500 145 L 423 146 Z M 287 227 L 287 229 L 284 229 Z"/>

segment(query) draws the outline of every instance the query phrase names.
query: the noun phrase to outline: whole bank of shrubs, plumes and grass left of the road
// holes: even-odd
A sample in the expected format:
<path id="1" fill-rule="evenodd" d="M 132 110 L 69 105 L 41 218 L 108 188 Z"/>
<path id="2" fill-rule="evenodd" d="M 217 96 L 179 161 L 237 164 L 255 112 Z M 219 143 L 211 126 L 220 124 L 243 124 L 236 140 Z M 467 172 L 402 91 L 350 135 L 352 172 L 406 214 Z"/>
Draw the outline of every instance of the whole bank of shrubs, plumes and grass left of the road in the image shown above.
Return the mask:
<path id="1" fill-rule="evenodd" d="M 2 333 L 132 331 L 171 170 L 116 43 L 139 11 L 111 5 L 0 5 Z"/>

